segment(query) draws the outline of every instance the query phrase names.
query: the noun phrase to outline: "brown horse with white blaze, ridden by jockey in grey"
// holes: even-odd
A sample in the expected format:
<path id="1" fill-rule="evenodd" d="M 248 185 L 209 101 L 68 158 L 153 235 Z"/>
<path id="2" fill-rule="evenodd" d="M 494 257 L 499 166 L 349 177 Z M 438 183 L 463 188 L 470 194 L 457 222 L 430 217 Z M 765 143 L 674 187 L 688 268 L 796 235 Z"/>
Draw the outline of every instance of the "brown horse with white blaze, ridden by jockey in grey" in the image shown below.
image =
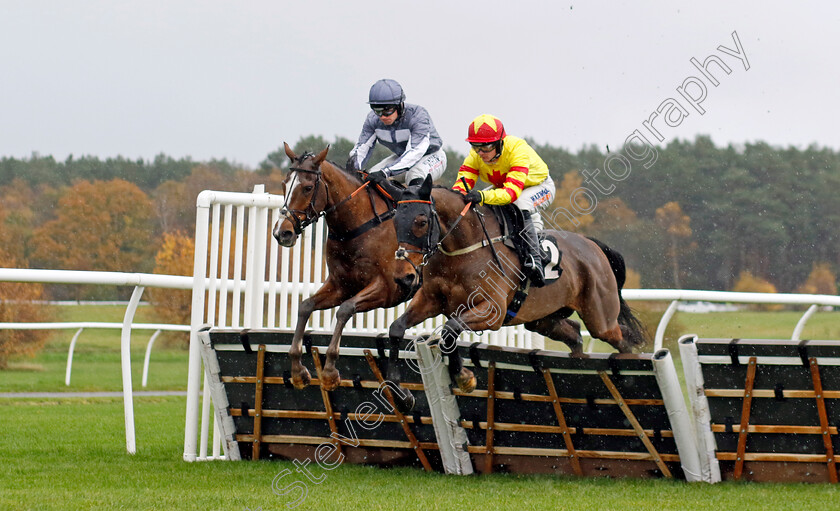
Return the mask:
<path id="1" fill-rule="evenodd" d="M 288 144 L 285 149 L 292 165 L 283 181 L 286 203 L 281 211 L 283 218 L 274 226 L 274 238 L 280 245 L 291 247 L 303 229 L 321 216 L 329 228 L 325 247 L 329 276 L 300 304 L 289 351 L 292 384 L 302 389 L 310 382 L 309 371 L 300 360 L 304 330 L 312 312 L 339 306 L 321 371 L 321 384 L 332 390 L 341 382 L 335 363 L 347 321 L 357 312 L 402 303 L 411 296 L 411 289 L 394 279 L 397 261 L 392 254 L 397 237 L 391 219 L 393 202 L 371 191 L 355 172 L 327 161 L 329 146 L 317 155 L 298 156 Z M 395 358 L 397 350 L 391 352 L 391 358 Z"/>

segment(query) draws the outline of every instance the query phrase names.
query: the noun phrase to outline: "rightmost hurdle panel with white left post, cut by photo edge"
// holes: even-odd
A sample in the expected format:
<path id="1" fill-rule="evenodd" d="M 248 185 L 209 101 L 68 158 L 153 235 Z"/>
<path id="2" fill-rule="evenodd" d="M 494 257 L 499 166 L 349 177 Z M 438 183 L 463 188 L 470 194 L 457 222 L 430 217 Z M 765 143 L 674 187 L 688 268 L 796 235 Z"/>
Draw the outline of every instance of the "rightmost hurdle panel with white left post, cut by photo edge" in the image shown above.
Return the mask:
<path id="1" fill-rule="evenodd" d="M 838 481 L 840 341 L 679 340 L 704 474 Z"/>

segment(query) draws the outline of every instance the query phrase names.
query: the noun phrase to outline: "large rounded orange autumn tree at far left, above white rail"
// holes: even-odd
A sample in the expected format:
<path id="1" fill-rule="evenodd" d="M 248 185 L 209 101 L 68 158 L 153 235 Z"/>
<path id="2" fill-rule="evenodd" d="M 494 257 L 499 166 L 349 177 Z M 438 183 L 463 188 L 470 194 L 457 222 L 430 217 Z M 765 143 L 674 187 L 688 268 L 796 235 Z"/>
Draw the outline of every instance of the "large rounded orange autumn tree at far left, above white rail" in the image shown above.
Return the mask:
<path id="1" fill-rule="evenodd" d="M 56 218 L 35 230 L 34 262 L 45 268 L 142 272 L 154 253 L 154 210 L 137 185 L 79 181 L 59 200 Z"/>

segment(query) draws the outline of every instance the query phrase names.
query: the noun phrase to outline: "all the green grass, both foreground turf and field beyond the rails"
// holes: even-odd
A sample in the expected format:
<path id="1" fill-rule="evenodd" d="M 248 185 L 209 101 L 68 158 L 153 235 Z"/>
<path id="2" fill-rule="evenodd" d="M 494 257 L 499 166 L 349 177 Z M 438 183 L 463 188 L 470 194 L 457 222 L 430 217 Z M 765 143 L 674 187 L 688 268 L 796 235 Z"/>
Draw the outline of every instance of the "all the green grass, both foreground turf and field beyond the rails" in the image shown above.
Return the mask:
<path id="1" fill-rule="evenodd" d="M 122 307 L 68 307 L 65 321 L 122 321 Z M 149 311 L 141 308 L 139 321 Z M 680 333 L 723 337 L 789 337 L 801 313 L 678 313 Z M 803 337 L 840 339 L 840 313 L 820 312 Z M 742 333 L 738 333 L 742 332 Z M 749 333 L 747 333 L 749 332 Z M 0 392 L 120 390 L 119 332 L 85 331 L 77 343 L 73 381 L 64 386 L 73 331 L 51 335 L 34 359 L 0 371 Z M 132 339 L 133 378 L 151 332 Z M 182 390 L 186 351 L 157 345 L 150 388 Z M 35 368 L 35 369 L 33 369 Z M 39 368 L 39 369 L 38 369 Z M 678 370 L 679 374 L 679 370 Z M 121 398 L 0 399 L 0 509 L 288 509 L 293 495 L 272 492 L 303 476 L 289 462 L 182 460 L 184 397 L 135 398 L 137 454 L 125 452 Z M 455 477 L 418 469 L 342 465 L 321 484 L 305 482 L 299 509 L 551 509 L 551 510 L 826 510 L 840 509 L 840 490 L 829 484 L 689 484 L 666 480 L 571 477 Z"/>

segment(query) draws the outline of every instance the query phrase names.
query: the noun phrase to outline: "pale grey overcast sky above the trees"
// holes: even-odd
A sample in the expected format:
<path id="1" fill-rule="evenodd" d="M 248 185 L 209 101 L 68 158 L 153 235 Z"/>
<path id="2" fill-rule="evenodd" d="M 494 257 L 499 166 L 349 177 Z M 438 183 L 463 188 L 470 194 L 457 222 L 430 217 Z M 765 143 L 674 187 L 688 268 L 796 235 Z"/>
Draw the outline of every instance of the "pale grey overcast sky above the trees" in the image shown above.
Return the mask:
<path id="1" fill-rule="evenodd" d="M 355 140 L 379 78 L 462 153 L 481 113 L 570 151 L 658 143 L 645 121 L 663 143 L 836 150 L 838 26 L 834 2 L 0 0 L 0 156 L 253 168 L 284 140 Z M 749 69 L 718 49 L 733 32 Z M 710 55 L 717 86 L 690 62 Z M 686 113 L 651 121 L 669 98 Z"/>

